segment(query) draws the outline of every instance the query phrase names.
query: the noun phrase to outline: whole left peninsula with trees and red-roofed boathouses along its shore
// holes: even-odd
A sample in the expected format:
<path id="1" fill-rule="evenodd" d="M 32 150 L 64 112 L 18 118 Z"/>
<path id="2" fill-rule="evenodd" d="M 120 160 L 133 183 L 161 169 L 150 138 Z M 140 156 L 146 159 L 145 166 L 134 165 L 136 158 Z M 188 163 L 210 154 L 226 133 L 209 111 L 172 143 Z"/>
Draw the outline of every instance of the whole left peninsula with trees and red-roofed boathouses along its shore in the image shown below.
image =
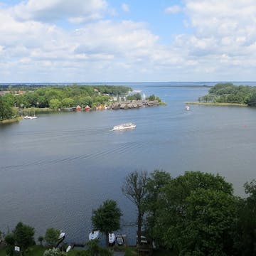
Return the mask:
<path id="1" fill-rule="evenodd" d="M 159 97 L 142 97 L 119 85 L 1 85 L 0 123 L 43 112 L 118 110 L 164 105 Z M 11 121 L 10 121 L 11 120 Z"/>

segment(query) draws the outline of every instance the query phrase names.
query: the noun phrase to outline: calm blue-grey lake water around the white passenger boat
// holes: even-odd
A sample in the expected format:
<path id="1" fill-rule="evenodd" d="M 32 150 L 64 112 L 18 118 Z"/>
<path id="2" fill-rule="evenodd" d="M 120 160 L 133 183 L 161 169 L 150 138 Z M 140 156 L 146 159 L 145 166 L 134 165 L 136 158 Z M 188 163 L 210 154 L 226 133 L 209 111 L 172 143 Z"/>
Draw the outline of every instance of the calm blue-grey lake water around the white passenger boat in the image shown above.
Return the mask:
<path id="1" fill-rule="evenodd" d="M 256 178 L 255 109 L 195 105 L 185 111 L 184 102 L 208 89 L 133 86 L 168 105 L 44 114 L 0 127 L 0 230 L 21 220 L 36 228 L 36 239 L 55 227 L 67 233 L 66 242 L 84 242 L 92 209 L 110 198 L 122 209 L 120 232 L 133 242 L 136 215 L 121 186 L 135 169 L 219 173 L 243 195 L 243 183 Z M 111 131 L 123 122 L 137 128 Z"/>

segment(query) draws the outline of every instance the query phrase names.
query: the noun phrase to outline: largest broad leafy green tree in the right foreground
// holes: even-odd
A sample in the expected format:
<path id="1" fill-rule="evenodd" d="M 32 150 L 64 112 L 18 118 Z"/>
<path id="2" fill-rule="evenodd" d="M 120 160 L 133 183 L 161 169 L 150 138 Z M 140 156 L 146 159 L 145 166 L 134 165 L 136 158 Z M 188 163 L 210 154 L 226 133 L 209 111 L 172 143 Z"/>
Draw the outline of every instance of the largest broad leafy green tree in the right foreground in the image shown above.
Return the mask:
<path id="1" fill-rule="evenodd" d="M 218 174 L 189 171 L 172 179 L 159 196 L 153 229 L 157 242 L 181 255 L 189 250 L 191 255 L 205 255 L 199 253 L 198 247 L 211 252 L 220 242 L 219 237 L 225 240 L 225 246 L 232 247 L 230 233 L 236 218 L 235 202 L 231 184 Z M 210 244 L 210 240 L 215 245 Z M 223 253 L 228 250 L 223 244 L 220 247 Z"/>

